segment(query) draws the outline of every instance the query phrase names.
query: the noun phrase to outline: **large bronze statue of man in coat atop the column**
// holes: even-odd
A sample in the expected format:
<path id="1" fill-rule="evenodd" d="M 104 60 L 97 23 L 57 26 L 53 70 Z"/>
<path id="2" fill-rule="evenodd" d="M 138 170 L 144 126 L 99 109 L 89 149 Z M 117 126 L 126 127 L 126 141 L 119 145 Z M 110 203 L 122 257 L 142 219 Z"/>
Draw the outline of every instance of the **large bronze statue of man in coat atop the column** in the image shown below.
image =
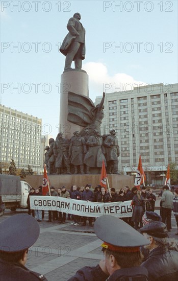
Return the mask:
<path id="1" fill-rule="evenodd" d="M 81 69 L 82 60 L 85 59 L 85 29 L 80 19 L 80 13 L 75 13 L 67 24 L 69 33 L 60 48 L 60 52 L 66 56 L 64 71 L 72 69 L 72 60 L 74 60 L 75 69 Z"/>

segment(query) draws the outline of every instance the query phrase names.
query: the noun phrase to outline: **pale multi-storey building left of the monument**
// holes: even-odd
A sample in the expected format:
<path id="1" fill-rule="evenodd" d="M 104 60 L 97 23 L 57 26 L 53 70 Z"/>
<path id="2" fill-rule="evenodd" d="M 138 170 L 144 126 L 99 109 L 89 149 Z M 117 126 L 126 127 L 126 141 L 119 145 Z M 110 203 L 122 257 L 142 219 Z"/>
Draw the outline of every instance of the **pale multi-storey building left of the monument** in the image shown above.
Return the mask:
<path id="1" fill-rule="evenodd" d="M 40 169 L 41 119 L 0 105 L 0 162 L 7 168 L 14 159 L 17 169 Z"/>

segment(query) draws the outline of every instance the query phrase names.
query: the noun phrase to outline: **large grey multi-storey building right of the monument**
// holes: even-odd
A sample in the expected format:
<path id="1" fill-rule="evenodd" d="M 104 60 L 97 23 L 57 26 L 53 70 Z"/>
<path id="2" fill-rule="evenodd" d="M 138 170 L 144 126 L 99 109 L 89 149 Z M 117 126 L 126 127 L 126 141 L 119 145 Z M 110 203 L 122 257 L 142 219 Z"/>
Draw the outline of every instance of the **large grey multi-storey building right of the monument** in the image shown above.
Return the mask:
<path id="1" fill-rule="evenodd" d="M 154 84 L 106 93 L 101 133 L 116 130 L 121 172 L 134 172 L 141 155 L 149 181 L 154 178 L 154 183 L 163 183 L 168 163 L 178 161 L 177 87 Z M 96 97 L 96 104 L 101 98 Z"/>

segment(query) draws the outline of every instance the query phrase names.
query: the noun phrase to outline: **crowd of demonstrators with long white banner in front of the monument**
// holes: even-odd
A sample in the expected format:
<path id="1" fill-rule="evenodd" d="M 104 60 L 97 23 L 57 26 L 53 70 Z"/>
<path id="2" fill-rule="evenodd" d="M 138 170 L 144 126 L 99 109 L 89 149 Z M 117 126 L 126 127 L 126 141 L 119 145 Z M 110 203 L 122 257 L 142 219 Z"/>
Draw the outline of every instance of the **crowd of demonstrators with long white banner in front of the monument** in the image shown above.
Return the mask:
<path id="1" fill-rule="evenodd" d="M 32 213 L 32 216 L 37 219 L 38 222 L 41 222 L 44 219 L 44 210 L 31 210 L 30 207 L 30 196 L 41 196 L 42 195 L 42 186 L 39 186 L 38 189 L 32 188 L 29 193 L 27 200 L 29 215 Z M 49 192 L 46 194 L 49 196 Z M 123 217 L 122 220 L 136 230 L 143 226 L 142 217 L 145 213 L 145 210 L 149 212 L 154 212 L 156 196 L 152 193 L 152 189 L 142 186 L 141 190 L 137 190 L 136 187 L 130 189 L 129 185 L 125 185 L 124 188 L 121 188 L 116 192 L 115 188 L 111 188 L 110 193 L 105 190 L 101 185 L 97 185 L 93 189 L 92 184 L 86 184 L 84 186 L 78 187 L 77 185 L 72 185 L 67 191 L 65 186 L 58 188 L 58 191 L 55 191 L 54 186 L 50 187 L 50 196 L 59 196 L 63 198 L 71 198 L 75 200 L 85 200 L 91 202 L 124 202 L 132 201 L 131 205 L 133 208 L 132 217 Z M 169 190 L 167 185 L 163 186 L 162 196 L 160 201 L 160 215 L 162 221 L 166 224 L 168 232 L 171 231 L 171 212 L 176 219 L 177 224 L 177 233 L 178 233 L 178 189 L 174 189 L 174 195 Z M 89 217 L 80 217 L 77 215 L 71 215 L 63 212 L 58 212 L 57 210 L 48 211 L 48 220 L 47 222 L 58 221 L 59 223 L 65 223 L 66 219 L 72 221 L 71 224 L 77 226 L 82 222 L 82 226 L 86 226 L 87 220 L 89 221 L 89 226 L 92 226 L 93 218 Z"/>

